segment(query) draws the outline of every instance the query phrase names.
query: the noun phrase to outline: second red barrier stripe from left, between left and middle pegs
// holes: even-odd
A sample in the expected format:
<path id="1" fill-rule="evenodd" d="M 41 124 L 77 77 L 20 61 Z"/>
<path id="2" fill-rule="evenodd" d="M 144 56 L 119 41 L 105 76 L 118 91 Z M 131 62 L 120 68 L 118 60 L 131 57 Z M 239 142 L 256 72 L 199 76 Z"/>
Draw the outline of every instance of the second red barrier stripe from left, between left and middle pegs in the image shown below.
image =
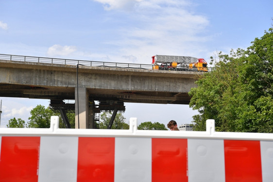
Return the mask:
<path id="1" fill-rule="evenodd" d="M 78 182 L 114 182 L 115 138 L 79 137 Z"/>

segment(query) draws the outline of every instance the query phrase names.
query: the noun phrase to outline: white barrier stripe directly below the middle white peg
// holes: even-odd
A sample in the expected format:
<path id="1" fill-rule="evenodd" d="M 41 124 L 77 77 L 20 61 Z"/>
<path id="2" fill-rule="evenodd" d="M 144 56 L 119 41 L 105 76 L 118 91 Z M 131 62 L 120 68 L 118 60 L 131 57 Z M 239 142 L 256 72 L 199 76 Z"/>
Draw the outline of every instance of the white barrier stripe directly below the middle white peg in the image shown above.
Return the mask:
<path id="1" fill-rule="evenodd" d="M 115 143 L 115 182 L 151 182 L 151 138 L 116 137 Z"/>

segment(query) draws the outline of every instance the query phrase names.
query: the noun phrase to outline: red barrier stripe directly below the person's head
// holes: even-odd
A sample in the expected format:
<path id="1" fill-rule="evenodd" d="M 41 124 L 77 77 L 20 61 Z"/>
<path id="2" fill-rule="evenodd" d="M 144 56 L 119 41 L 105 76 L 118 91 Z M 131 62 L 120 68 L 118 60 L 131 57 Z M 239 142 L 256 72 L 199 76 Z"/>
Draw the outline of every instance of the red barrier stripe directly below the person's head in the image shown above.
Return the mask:
<path id="1" fill-rule="evenodd" d="M 187 139 L 152 138 L 152 182 L 188 182 Z"/>

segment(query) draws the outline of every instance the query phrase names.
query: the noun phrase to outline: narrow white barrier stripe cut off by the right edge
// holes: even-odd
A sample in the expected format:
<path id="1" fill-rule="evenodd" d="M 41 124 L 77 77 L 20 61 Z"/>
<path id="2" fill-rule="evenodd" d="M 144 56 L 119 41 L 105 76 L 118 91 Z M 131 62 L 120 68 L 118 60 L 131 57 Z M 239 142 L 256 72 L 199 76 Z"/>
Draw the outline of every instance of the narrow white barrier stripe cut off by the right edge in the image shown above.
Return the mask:
<path id="1" fill-rule="evenodd" d="M 273 142 L 260 141 L 263 182 L 273 181 Z"/>

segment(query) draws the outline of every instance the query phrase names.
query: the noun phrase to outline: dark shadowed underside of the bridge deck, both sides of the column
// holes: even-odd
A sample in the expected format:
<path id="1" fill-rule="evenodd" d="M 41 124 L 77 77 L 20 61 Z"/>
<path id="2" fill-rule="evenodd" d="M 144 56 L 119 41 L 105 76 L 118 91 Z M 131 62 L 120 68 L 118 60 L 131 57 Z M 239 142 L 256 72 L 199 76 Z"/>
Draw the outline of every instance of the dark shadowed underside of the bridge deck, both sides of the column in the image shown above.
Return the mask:
<path id="1" fill-rule="evenodd" d="M 188 93 L 128 91 L 112 89 L 87 88 L 88 95 L 93 100 L 116 100 L 136 103 L 158 104 L 188 104 Z M 75 88 L 72 87 L 40 87 L 20 84 L 0 84 L 0 97 L 16 97 L 30 99 L 75 99 Z"/>

